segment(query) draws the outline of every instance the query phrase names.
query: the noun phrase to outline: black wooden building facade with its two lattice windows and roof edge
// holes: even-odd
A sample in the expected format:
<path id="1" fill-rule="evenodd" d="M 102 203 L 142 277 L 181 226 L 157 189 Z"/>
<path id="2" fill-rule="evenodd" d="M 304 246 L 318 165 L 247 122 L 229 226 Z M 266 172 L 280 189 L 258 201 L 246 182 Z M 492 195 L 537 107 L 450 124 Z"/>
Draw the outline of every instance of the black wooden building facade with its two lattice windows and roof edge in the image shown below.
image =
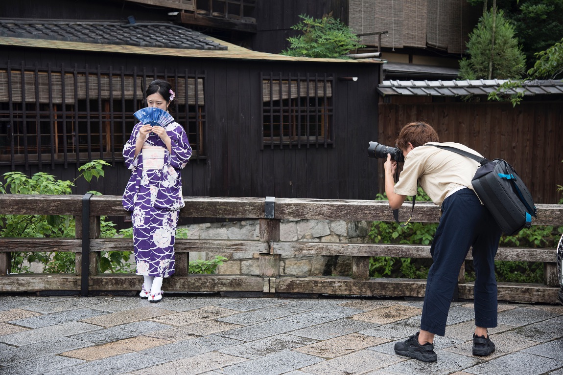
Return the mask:
<path id="1" fill-rule="evenodd" d="M 105 178 L 79 180 L 76 191 L 120 195 L 133 112 L 146 84 L 163 78 L 178 93 L 171 113 L 194 148 L 182 170 L 184 196 L 375 196 L 366 151 L 378 134 L 378 62 L 215 42 L 227 49 L 0 37 L 0 173 L 74 179 L 79 165 L 104 159 L 113 165 Z"/>

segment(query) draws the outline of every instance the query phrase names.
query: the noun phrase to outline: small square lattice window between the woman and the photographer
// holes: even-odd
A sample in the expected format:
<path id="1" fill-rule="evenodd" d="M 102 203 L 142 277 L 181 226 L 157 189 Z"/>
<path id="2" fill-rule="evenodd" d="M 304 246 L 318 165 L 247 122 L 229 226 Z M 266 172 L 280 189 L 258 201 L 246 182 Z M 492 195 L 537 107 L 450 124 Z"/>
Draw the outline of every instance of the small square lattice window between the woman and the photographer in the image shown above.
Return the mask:
<path id="1" fill-rule="evenodd" d="M 263 144 L 331 144 L 332 87 L 327 75 L 262 76 Z"/>

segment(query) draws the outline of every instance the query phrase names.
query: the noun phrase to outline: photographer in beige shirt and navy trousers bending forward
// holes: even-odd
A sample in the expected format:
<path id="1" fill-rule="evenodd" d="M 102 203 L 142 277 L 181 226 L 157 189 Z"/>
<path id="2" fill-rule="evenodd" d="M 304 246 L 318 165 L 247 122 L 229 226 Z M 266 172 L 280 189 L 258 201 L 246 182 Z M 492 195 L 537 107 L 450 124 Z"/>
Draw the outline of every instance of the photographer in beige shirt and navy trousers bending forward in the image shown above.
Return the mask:
<path id="1" fill-rule="evenodd" d="M 430 247 L 434 263 L 428 271 L 421 330 L 405 342 L 395 344 L 396 354 L 423 362 L 436 361 L 434 335 L 445 335 L 450 302 L 470 246 L 473 246 L 476 277 L 473 355 L 493 353 L 494 344 L 488 337 L 487 328 L 497 327 L 494 257 L 502 232 L 471 186 L 479 163 L 428 143 L 438 141 L 436 131 L 427 123 L 407 124 L 396 141 L 405 156 L 403 171 L 396 184 L 397 162 L 387 155 L 384 164 L 385 192 L 392 209 L 401 207 L 406 196 L 416 195 L 417 184 L 434 204 L 441 205 L 440 223 Z M 463 144 L 440 144 L 478 154 Z"/>

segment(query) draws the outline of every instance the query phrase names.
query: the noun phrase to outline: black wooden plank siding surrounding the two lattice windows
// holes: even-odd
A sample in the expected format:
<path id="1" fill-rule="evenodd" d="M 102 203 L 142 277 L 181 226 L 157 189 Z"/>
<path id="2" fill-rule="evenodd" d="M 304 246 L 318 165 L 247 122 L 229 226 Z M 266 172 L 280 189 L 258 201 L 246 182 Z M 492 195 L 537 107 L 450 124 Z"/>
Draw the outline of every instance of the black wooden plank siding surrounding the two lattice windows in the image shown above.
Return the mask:
<path id="1" fill-rule="evenodd" d="M 197 58 L 171 58 L 79 51 L 49 51 L 1 47 L 0 52 L 11 61 L 24 61 L 33 66 L 77 64 L 123 66 L 132 69 L 147 67 L 148 74 L 157 70 L 187 70 L 190 74 L 205 73 L 204 129 L 205 159 L 194 160 L 182 170 L 185 196 L 251 196 L 371 199 L 377 192 L 377 166 L 368 160 L 368 141 L 377 138 L 376 85 L 379 65 L 358 62 L 264 62 Z M 310 74 L 333 76 L 333 139 L 334 144 L 310 144 L 292 148 L 262 147 L 261 73 Z M 358 76 L 358 82 L 341 81 L 339 76 Z M 115 126 L 122 126 L 116 123 Z M 131 129 L 128 129 L 131 132 Z M 127 134 L 128 136 L 128 134 Z M 263 148 L 263 150 L 261 150 Z M 96 157 L 93 155 L 93 157 Z M 27 174 L 39 171 L 35 165 Z M 0 173 L 11 170 L 2 166 Z M 74 179 L 77 165 L 69 162 L 43 165 L 57 178 Z M 123 161 L 115 160 L 106 168 L 106 177 L 88 185 L 78 181 L 76 193 L 95 189 L 105 195 L 120 195 L 129 178 Z"/>

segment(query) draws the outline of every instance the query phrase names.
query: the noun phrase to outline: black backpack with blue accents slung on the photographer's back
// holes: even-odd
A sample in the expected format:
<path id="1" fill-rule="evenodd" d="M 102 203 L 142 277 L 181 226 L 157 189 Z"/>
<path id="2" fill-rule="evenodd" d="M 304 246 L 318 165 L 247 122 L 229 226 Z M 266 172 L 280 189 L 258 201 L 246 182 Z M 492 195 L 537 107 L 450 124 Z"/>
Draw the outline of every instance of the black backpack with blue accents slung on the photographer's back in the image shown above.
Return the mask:
<path id="1" fill-rule="evenodd" d="M 531 216 L 537 217 L 537 210 L 530 191 L 512 165 L 502 159 L 491 161 L 455 147 L 431 146 L 459 153 L 481 164 L 471 184 L 504 233 L 512 236 L 524 227 L 531 227 Z"/>

